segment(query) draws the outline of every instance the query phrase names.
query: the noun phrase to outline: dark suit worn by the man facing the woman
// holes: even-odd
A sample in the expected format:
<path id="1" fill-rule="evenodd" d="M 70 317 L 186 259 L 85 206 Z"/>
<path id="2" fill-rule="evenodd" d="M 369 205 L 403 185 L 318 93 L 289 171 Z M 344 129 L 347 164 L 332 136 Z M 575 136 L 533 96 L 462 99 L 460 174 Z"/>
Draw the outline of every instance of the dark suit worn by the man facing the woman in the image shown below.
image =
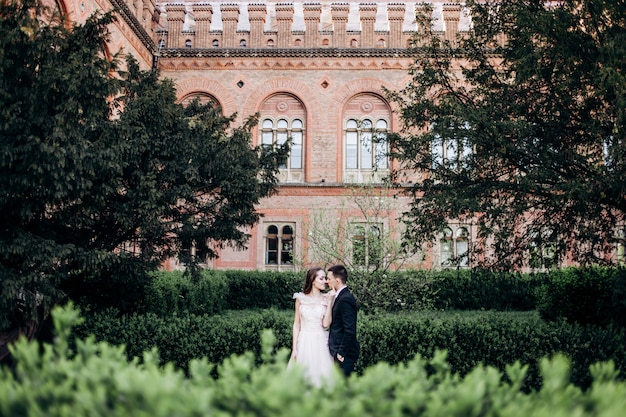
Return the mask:
<path id="1" fill-rule="evenodd" d="M 348 288 L 344 288 L 335 298 L 333 305 L 333 321 L 330 324 L 328 348 L 346 376 L 354 370 L 354 364 L 359 358 L 360 346 L 356 340 L 356 316 L 356 300 Z M 338 354 L 344 358 L 343 362 L 337 359 Z"/>

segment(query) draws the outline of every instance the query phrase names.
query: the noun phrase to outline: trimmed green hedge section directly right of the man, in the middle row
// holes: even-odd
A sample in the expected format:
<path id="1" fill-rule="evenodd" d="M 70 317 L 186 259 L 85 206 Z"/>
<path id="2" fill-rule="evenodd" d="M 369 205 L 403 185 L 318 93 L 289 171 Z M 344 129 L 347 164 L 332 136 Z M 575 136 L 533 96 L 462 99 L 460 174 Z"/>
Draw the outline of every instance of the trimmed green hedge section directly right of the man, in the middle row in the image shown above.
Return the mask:
<path id="1" fill-rule="evenodd" d="M 590 382 L 589 365 L 613 360 L 626 370 L 626 334 L 620 329 L 548 323 L 534 313 L 465 312 L 418 316 L 368 317 L 359 327 L 362 367 L 406 361 L 415 353 L 432 357 L 448 352 L 451 369 L 465 375 L 479 364 L 504 369 L 520 361 L 529 365 L 526 388 L 541 386 L 539 358 L 562 352 L 572 358 L 572 379 Z"/>

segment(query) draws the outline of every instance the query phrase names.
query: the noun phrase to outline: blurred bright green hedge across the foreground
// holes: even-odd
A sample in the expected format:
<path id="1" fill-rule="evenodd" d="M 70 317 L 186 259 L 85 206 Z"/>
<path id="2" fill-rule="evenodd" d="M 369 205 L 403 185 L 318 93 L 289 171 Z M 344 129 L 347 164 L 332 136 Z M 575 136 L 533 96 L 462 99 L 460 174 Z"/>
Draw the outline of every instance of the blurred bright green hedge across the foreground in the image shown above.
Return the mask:
<path id="1" fill-rule="evenodd" d="M 379 363 L 315 388 L 299 369 L 286 369 L 286 350 L 272 352 L 271 332 L 263 334 L 260 361 L 250 353 L 231 356 L 215 379 L 204 360 L 192 361 L 186 376 L 161 367 L 153 354 L 129 363 L 123 349 L 89 339 L 71 352 L 68 326 L 75 319 L 72 310 L 55 312 L 54 345 L 18 343 L 15 369 L 0 368 L 0 416 L 621 417 L 626 409 L 626 385 L 611 363 L 594 365 L 591 388 L 581 390 L 568 383 L 565 358 L 543 359 L 542 388 L 526 392 L 519 363 L 459 377 L 438 351 L 430 361 Z"/>

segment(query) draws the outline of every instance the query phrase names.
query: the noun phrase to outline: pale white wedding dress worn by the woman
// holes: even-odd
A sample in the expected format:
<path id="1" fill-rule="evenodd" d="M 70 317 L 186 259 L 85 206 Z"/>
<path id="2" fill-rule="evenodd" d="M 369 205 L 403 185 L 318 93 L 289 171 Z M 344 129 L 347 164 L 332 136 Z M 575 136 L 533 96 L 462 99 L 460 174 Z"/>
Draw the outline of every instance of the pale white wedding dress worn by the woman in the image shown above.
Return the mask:
<path id="1" fill-rule="evenodd" d="M 291 359 L 288 366 L 294 363 L 302 366 L 309 381 L 319 387 L 330 379 L 334 366 L 328 351 L 328 331 L 322 327 L 326 305 L 301 292 L 295 293 L 293 298 L 300 300 L 300 333 L 296 359 Z"/>

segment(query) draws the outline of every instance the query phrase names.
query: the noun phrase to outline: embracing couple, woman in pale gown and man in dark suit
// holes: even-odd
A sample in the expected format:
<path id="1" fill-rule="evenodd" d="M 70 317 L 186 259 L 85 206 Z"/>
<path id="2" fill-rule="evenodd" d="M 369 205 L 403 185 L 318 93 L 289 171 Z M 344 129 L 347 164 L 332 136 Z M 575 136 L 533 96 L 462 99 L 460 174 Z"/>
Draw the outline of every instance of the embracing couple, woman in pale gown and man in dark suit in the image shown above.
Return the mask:
<path id="1" fill-rule="evenodd" d="M 335 364 L 349 376 L 359 357 L 357 306 L 347 280 L 343 265 L 328 268 L 328 273 L 311 268 L 303 292 L 293 295 L 296 309 L 289 366 L 302 366 L 316 386 L 332 376 Z M 327 284 L 331 290 L 324 293 Z"/>

